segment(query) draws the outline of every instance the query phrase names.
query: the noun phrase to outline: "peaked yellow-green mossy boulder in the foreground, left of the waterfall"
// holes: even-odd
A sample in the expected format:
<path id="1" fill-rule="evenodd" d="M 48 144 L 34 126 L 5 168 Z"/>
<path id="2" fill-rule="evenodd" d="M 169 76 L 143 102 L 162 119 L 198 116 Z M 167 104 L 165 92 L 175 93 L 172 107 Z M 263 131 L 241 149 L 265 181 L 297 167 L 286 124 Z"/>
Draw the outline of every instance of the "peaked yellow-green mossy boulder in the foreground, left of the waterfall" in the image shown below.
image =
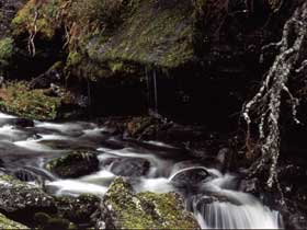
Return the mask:
<path id="1" fill-rule="evenodd" d="M 115 179 L 104 196 L 104 211 L 96 221 L 106 229 L 200 229 L 193 215 L 184 210 L 175 193 L 136 194 L 122 177 Z"/>

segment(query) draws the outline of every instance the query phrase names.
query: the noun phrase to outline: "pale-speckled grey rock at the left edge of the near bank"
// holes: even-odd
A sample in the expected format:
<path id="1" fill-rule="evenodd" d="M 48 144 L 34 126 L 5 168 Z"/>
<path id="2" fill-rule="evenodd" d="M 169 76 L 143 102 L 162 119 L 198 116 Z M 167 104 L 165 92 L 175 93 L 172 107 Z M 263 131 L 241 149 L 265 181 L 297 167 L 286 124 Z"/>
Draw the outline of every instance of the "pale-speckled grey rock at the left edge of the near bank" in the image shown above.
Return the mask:
<path id="1" fill-rule="evenodd" d="M 0 211 L 22 223 L 33 223 L 34 214 L 56 212 L 55 200 L 39 187 L 0 175 Z"/>

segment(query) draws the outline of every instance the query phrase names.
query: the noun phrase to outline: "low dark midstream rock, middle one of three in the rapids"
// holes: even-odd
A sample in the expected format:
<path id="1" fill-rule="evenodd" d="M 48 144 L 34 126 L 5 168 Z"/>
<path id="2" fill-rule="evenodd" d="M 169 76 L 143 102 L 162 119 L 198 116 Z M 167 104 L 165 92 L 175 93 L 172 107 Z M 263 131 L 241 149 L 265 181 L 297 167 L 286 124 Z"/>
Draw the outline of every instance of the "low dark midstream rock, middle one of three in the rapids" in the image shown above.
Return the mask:
<path id="1" fill-rule="evenodd" d="M 141 176 L 149 171 L 149 161 L 141 158 L 110 158 L 103 162 L 115 175 Z"/>

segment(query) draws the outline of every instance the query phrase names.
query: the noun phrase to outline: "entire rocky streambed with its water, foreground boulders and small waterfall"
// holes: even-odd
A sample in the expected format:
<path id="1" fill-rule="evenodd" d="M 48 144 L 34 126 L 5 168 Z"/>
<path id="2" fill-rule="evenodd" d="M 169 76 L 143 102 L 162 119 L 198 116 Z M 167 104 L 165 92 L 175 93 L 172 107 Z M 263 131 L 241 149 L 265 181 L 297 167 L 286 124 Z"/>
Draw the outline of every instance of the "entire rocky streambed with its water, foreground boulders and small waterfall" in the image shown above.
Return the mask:
<path id="1" fill-rule="evenodd" d="M 90 122 L 0 114 L 0 222 L 8 228 L 283 227 L 277 211 L 240 192 L 239 175 L 204 166 L 178 146 Z"/>

